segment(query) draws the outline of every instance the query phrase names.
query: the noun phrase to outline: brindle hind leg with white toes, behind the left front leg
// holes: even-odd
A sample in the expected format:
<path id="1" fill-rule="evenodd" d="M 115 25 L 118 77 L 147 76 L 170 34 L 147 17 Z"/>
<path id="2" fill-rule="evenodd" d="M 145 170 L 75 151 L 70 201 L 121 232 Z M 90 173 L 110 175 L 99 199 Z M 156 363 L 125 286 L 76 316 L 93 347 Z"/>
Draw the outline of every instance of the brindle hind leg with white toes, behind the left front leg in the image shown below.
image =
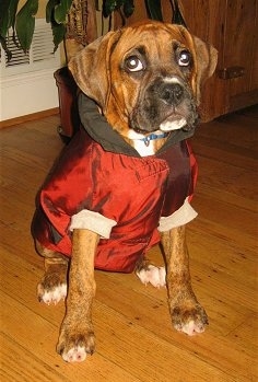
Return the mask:
<path id="1" fill-rule="evenodd" d="M 37 297 L 46 304 L 57 304 L 67 296 L 68 259 L 58 252 L 43 247 L 36 242 L 37 252 L 45 261 L 45 275 L 37 285 Z"/>

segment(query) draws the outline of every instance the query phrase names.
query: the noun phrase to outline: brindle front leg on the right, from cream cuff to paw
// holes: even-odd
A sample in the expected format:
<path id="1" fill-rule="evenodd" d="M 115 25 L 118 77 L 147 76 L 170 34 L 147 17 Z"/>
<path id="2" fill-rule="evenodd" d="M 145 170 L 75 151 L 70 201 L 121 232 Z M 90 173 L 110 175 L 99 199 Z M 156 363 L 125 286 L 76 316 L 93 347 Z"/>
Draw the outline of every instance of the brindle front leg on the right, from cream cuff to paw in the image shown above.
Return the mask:
<path id="1" fill-rule="evenodd" d="M 163 232 L 162 246 L 167 267 L 166 282 L 173 325 L 188 335 L 201 333 L 208 325 L 208 317 L 191 288 L 185 225 Z"/>

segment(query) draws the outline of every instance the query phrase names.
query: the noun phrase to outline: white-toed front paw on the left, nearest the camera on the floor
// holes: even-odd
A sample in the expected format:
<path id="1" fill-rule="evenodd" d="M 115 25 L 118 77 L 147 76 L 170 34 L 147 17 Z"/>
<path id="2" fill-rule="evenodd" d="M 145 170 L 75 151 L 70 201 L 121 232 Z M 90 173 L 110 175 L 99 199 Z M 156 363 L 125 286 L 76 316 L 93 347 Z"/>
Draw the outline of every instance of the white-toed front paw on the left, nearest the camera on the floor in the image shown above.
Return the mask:
<path id="1" fill-rule="evenodd" d="M 95 336 L 93 332 L 84 334 L 69 334 L 69 331 L 61 331 L 57 345 L 57 352 L 62 356 L 66 362 L 82 362 L 87 354 L 95 350 Z"/>

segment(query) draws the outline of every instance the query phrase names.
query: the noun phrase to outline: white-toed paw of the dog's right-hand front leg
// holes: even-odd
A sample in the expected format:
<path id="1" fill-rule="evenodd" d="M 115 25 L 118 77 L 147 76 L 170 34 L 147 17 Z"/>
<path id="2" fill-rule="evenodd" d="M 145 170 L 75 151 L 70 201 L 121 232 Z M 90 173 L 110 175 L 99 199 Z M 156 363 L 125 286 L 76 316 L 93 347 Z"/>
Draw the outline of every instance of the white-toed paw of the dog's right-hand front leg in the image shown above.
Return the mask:
<path id="1" fill-rule="evenodd" d="M 204 332 L 209 325 L 207 313 L 199 303 L 172 308 L 171 315 L 174 327 L 189 336 Z"/>

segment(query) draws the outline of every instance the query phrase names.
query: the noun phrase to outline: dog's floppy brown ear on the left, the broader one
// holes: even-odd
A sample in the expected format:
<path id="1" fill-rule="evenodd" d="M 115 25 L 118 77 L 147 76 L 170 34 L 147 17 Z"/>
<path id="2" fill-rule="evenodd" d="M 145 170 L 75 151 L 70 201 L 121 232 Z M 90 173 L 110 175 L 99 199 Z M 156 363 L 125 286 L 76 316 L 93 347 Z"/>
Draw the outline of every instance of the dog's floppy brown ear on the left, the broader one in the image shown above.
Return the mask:
<path id="1" fill-rule="evenodd" d="M 119 38 L 119 32 L 109 32 L 97 38 L 69 61 L 69 70 L 79 88 L 105 108 L 109 94 L 109 55 Z"/>

